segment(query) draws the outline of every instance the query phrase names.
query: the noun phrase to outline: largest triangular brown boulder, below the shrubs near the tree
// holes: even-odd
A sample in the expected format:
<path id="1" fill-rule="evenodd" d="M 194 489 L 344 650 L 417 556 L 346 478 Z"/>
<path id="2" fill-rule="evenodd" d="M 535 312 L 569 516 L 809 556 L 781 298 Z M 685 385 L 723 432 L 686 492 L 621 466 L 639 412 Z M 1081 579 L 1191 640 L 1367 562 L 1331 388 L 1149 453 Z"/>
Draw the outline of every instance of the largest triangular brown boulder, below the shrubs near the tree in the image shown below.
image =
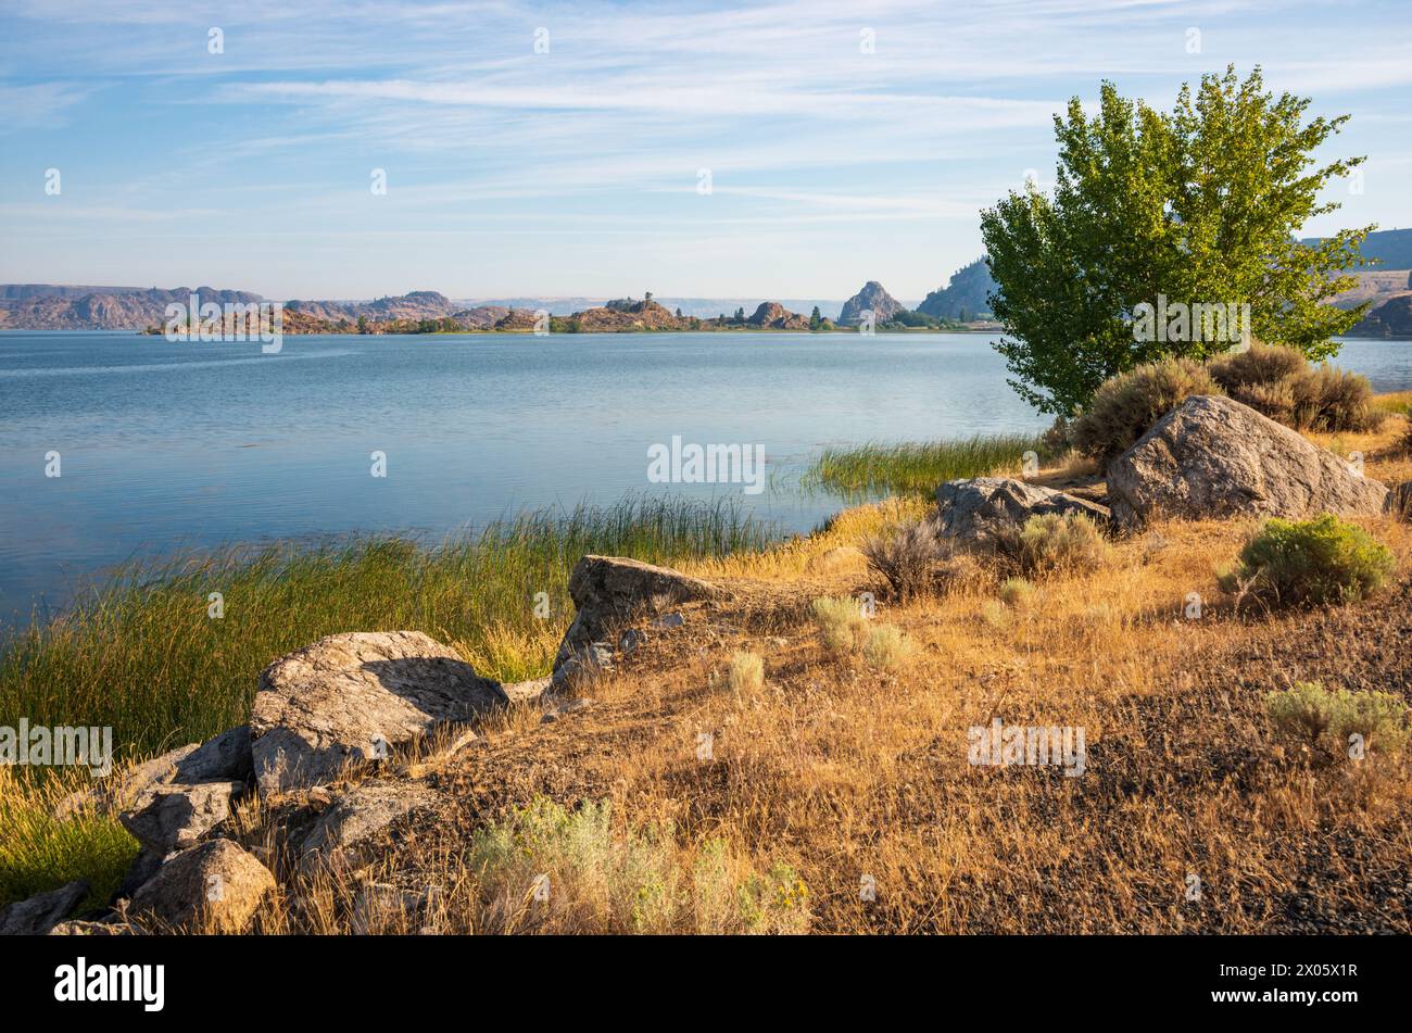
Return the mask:
<path id="1" fill-rule="evenodd" d="M 1114 519 L 1377 514 L 1388 490 L 1230 398 L 1193 395 L 1108 466 Z"/>

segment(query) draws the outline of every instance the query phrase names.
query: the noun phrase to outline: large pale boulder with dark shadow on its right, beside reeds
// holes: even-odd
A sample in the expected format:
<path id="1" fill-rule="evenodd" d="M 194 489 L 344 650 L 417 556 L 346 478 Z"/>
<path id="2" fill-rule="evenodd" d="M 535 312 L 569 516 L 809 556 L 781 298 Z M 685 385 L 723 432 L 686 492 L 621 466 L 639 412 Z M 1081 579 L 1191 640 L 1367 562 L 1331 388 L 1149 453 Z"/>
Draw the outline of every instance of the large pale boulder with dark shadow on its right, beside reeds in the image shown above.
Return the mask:
<path id="1" fill-rule="evenodd" d="M 329 635 L 260 676 L 250 728 L 263 792 L 328 782 L 433 727 L 508 703 L 452 649 L 418 631 Z"/>

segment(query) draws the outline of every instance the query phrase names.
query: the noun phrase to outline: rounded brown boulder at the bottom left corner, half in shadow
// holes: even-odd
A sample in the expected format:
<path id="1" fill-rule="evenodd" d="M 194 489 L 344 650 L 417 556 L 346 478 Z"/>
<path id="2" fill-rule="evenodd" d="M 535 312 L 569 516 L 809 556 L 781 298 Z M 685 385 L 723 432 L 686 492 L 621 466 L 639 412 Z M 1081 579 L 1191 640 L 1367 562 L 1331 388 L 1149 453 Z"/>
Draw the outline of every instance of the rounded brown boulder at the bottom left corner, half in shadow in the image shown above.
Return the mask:
<path id="1" fill-rule="evenodd" d="M 189 933 L 241 933 L 274 875 L 230 840 L 176 854 L 133 895 L 128 913 Z"/>

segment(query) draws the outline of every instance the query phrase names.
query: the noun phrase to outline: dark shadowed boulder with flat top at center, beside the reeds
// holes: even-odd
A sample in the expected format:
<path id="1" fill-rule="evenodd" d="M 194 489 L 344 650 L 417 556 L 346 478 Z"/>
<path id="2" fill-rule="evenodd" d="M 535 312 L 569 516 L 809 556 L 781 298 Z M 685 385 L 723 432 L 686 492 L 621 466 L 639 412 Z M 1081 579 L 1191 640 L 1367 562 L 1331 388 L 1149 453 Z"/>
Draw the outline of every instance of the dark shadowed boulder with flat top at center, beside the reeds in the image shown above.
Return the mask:
<path id="1" fill-rule="evenodd" d="M 582 557 L 569 574 L 569 596 L 576 612 L 559 644 L 554 683 L 559 684 L 576 672 L 604 666 L 611 658 L 613 634 L 618 624 L 720 594 L 714 584 L 668 567 L 620 556 Z"/>

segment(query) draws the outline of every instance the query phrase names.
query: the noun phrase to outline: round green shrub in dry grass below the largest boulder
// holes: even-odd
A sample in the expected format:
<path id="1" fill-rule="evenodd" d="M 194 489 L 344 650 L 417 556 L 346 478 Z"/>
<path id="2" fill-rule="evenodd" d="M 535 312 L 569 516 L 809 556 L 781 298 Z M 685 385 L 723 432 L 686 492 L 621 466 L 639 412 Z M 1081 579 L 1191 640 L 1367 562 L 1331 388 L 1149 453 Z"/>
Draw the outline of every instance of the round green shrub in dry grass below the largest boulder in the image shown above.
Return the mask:
<path id="1" fill-rule="evenodd" d="M 1392 552 L 1356 524 L 1332 514 L 1275 518 L 1245 543 L 1221 588 L 1276 605 L 1350 603 L 1382 587 L 1394 567 Z"/>

